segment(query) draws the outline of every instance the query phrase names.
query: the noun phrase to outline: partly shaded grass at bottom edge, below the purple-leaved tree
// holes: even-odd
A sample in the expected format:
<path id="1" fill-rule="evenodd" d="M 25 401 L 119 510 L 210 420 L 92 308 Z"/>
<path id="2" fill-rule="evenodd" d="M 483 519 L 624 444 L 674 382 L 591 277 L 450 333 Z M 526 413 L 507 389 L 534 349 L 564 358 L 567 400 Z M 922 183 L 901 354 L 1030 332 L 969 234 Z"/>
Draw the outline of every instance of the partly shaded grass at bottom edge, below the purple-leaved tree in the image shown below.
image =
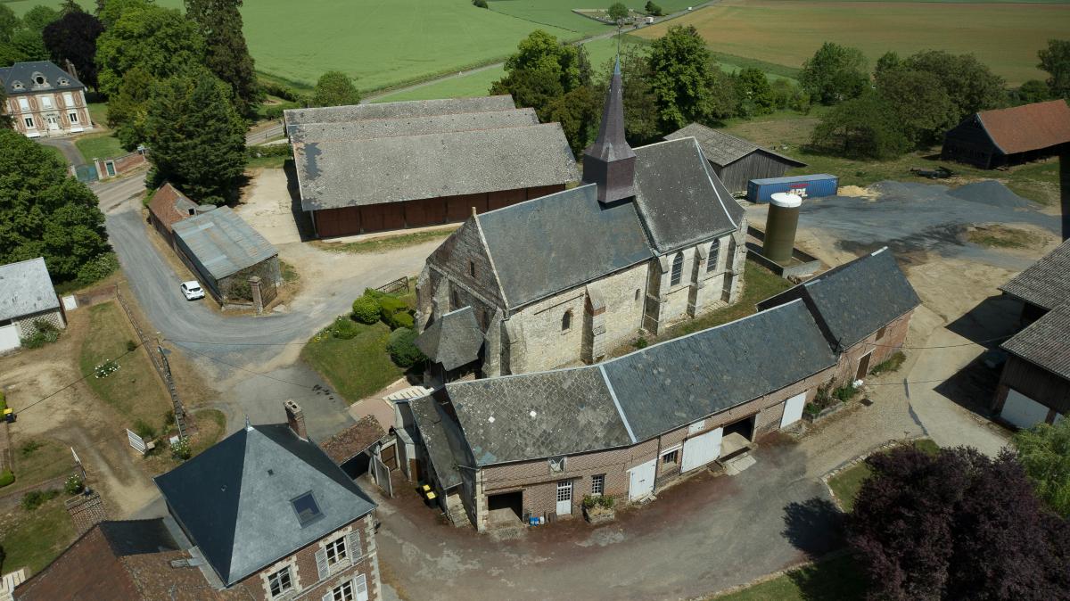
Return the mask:
<path id="1" fill-rule="evenodd" d="M 717 601 L 847 601 L 865 598 L 866 581 L 850 555 L 822 559 Z"/>

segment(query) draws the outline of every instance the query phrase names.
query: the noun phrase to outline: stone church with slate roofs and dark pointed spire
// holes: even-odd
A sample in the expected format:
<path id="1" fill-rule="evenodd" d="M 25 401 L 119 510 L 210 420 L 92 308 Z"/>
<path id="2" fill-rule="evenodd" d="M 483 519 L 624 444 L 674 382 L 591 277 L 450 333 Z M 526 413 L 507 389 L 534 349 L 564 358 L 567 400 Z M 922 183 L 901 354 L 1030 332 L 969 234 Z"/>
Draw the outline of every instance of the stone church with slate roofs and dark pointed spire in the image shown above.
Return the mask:
<path id="1" fill-rule="evenodd" d="M 597 363 L 734 303 L 746 232 L 694 138 L 628 145 L 617 65 L 581 184 L 473 212 L 428 257 L 416 325 L 429 383 Z M 442 336 L 473 321 L 482 337 Z"/>

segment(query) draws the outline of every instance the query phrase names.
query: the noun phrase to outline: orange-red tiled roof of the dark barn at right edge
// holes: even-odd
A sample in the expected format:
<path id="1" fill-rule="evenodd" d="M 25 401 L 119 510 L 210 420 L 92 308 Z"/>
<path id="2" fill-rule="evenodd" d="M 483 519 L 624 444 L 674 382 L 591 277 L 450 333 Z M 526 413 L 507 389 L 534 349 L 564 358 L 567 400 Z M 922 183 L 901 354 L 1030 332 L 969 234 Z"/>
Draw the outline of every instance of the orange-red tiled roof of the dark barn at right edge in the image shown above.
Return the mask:
<path id="1" fill-rule="evenodd" d="M 1070 106 L 1063 99 L 985 110 L 977 117 L 1004 154 L 1070 142 Z"/>

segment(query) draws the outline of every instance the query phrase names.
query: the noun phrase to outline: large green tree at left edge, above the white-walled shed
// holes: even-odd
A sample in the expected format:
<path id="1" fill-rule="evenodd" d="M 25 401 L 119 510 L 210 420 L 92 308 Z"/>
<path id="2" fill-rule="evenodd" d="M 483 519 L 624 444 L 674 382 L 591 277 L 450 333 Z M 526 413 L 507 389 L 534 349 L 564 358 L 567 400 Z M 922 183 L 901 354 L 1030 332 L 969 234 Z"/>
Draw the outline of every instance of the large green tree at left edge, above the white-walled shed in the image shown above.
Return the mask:
<path id="1" fill-rule="evenodd" d="M 110 251 L 96 196 L 33 140 L 0 129 L 0 264 L 44 257 L 71 281 Z"/>

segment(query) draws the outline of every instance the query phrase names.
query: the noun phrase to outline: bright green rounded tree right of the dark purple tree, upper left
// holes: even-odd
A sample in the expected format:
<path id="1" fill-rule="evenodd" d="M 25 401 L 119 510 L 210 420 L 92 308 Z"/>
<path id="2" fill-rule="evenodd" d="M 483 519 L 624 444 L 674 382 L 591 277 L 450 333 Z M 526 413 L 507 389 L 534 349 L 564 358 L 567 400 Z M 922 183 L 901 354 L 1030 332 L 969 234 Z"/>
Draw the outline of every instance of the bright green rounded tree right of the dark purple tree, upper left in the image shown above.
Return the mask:
<path id="1" fill-rule="evenodd" d="M 111 6 L 110 0 L 106 6 Z M 105 30 L 96 41 L 96 66 L 100 90 L 107 96 L 119 92 L 123 75 L 135 66 L 163 80 L 202 64 L 204 38 L 179 11 L 133 5 L 113 26 L 101 20 Z"/>

